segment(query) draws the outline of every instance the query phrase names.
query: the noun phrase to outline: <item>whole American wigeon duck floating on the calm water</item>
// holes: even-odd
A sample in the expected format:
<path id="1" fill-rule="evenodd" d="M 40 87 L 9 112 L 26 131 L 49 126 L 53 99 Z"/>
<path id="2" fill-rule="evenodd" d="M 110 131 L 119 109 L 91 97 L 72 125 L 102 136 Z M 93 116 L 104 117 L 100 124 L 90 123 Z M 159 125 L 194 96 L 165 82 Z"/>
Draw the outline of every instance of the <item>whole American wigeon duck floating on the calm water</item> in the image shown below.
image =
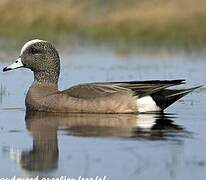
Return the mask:
<path id="1" fill-rule="evenodd" d="M 58 90 L 60 58 L 55 47 L 43 40 L 31 40 L 19 58 L 3 71 L 29 68 L 34 82 L 26 96 L 28 110 L 47 112 L 137 113 L 163 111 L 198 87 L 168 89 L 184 80 L 89 83 Z"/>

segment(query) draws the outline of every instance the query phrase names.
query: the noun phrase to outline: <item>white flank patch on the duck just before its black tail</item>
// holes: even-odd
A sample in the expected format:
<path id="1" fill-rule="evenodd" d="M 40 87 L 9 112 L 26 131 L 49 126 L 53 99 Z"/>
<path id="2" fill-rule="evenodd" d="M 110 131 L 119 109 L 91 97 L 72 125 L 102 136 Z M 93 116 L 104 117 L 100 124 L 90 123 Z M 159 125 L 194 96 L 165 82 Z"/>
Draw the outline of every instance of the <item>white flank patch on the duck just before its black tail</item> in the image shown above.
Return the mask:
<path id="1" fill-rule="evenodd" d="M 161 110 L 151 96 L 145 96 L 137 99 L 137 107 L 139 112 L 154 112 Z"/>

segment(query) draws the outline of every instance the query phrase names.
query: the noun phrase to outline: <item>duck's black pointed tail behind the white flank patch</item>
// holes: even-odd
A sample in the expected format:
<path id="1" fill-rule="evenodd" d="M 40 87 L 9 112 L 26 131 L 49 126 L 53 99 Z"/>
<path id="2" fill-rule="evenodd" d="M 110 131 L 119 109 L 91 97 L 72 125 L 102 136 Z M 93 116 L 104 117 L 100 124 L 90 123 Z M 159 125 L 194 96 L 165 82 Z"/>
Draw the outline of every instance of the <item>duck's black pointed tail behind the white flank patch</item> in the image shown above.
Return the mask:
<path id="1" fill-rule="evenodd" d="M 189 89 L 164 89 L 162 91 L 151 94 L 151 97 L 162 110 L 173 104 L 188 93 L 202 86 L 196 86 Z"/>

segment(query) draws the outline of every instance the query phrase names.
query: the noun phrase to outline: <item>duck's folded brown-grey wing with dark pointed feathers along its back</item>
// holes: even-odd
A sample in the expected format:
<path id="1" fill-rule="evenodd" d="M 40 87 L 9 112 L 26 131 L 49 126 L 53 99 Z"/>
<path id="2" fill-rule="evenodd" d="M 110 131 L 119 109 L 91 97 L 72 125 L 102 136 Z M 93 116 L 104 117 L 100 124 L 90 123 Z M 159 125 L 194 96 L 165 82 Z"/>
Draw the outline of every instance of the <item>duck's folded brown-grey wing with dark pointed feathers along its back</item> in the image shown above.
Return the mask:
<path id="1" fill-rule="evenodd" d="M 97 98 L 113 93 L 128 93 L 129 95 L 144 97 L 162 91 L 171 86 L 183 84 L 184 80 L 153 80 L 153 81 L 127 81 L 88 83 L 73 86 L 62 91 L 76 98 Z"/>

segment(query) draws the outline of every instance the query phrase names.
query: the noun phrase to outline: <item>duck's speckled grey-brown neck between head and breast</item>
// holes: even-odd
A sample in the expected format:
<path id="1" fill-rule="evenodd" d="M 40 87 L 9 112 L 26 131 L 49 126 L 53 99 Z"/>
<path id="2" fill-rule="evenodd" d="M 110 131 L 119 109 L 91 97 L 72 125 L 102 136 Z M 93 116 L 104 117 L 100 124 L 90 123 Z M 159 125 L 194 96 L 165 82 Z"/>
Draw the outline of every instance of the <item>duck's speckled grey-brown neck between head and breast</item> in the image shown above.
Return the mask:
<path id="1" fill-rule="evenodd" d="M 34 72 L 33 85 L 52 86 L 58 89 L 59 70 Z"/>

